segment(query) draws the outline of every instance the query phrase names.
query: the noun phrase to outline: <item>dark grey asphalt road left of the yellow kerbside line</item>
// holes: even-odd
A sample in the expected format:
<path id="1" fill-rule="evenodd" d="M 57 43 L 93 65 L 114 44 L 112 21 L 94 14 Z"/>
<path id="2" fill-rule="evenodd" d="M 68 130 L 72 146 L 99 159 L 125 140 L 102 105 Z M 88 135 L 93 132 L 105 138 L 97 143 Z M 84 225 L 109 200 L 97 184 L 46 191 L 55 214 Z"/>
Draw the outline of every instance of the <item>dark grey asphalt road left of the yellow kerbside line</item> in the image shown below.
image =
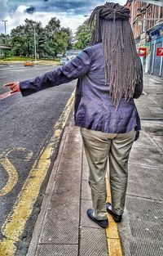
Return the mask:
<path id="1" fill-rule="evenodd" d="M 56 69 L 57 66 L 35 66 L 25 69 L 17 66 L 16 70 L 13 70 L 13 66 L 7 68 L 9 69 L 4 70 L 4 67 L 0 67 L 0 94 L 8 91 L 8 88 L 2 88 L 3 83 L 32 79 L 46 71 Z M 8 214 L 12 212 L 13 204 L 34 161 L 51 137 L 54 124 L 62 114 L 75 84 L 76 81 L 73 81 L 34 93 L 29 97 L 22 97 L 20 93 L 17 93 L 0 101 L 0 240 L 3 238 L 2 225 Z M 2 188 L 9 182 L 10 169 L 18 173 L 18 180 L 13 174 L 15 182 L 13 188 L 9 186 L 7 191 L 1 195 Z M 42 193 L 43 191 L 42 189 Z M 37 215 L 39 208 L 40 205 L 37 204 L 36 209 L 33 209 L 33 214 Z M 35 219 L 36 216 L 33 217 L 33 220 Z M 27 237 L 24 241 L 26 246 L 32 234 L 33 225 L 33 221 L 29 222 L 24 231 Z"/>

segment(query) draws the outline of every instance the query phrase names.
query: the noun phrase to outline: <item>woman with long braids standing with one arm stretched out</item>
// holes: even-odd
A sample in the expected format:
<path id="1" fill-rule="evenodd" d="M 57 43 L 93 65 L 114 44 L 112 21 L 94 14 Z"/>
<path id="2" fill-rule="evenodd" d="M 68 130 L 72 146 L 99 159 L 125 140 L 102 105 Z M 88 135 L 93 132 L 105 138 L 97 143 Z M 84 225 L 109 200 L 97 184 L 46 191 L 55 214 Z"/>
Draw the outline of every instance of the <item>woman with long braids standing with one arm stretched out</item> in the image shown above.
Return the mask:
<path id="1" fill-rule="evenodd" d="M 93 209 L 88 209 L 87 215 L 100 227 L 108 227 L 107 211 L 121 222 L 128 159 L 140 130 L 134 98 L 142 94 L 143 73 L 129 19 L 130 10 L 118 3 L 95 7 L 90 16 L 90 47 L 57 70 L 5 85 L 11 93 L 28 96 L 78 79 L 75 124 L 81 128 L 93 201 Z M 108 163 L 112 204 L 106 203 Z"/>

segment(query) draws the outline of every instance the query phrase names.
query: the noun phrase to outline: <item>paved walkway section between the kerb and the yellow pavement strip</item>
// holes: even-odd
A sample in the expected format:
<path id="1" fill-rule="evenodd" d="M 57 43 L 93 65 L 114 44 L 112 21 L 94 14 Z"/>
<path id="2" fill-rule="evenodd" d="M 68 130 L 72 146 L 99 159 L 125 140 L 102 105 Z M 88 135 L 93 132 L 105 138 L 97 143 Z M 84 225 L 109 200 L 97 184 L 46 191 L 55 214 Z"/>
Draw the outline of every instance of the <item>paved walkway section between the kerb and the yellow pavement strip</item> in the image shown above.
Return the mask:
<path id="1" fill-rule="evenodd" d="M 92 206 L 88 165 L 73 122 L 64 131 L 52 176 L 55 186 L 36 255 L 108 255 L 105 230 L 86 217 Z"/>

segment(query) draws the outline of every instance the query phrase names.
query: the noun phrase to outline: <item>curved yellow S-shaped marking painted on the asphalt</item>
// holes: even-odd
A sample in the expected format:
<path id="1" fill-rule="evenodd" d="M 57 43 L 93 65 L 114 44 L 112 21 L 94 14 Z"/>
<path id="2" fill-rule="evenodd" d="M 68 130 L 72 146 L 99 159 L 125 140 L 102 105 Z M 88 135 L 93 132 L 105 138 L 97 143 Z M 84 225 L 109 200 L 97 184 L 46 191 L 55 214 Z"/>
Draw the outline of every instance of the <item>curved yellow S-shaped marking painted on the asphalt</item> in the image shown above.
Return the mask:
<path id="1" fill-rule="evenodd" d="M 0 196 L 7 195 L 15 184 L 18 182 L 18 173 L 11 161 L 8 159 L 8 155 L 13 151 L 24 151 L 26 154 L 26 159 L 31 159 L 33 152 L 31 150 L 26 150 L 24 148 L 15 148 L 12 150 L 5 150 L 2 154 L 0 154 L 0 164 L 8 173 L 7 184 L 0 189 Z"/>

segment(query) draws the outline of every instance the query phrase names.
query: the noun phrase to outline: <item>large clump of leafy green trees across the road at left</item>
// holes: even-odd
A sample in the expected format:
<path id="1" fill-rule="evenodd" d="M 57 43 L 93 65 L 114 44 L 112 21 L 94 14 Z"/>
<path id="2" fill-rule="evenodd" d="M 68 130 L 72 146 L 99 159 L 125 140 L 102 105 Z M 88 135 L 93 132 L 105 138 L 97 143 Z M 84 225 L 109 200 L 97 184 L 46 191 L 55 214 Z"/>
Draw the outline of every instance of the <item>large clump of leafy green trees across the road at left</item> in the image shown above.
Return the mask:
<path id="1" fill-rule="evenodd" d="M 41 22 L 28 19 L 24 21 L 24 25 L 11 30 L 11 55 L 34 56 L 34 30 L 39 58 L 54 57 L 71 47 L 72 32 L 69 28 L 61 28 L 56 17 L 53 17 L 45 28 Z M 0 39 L 4 41 L 3 36 Z"/>

